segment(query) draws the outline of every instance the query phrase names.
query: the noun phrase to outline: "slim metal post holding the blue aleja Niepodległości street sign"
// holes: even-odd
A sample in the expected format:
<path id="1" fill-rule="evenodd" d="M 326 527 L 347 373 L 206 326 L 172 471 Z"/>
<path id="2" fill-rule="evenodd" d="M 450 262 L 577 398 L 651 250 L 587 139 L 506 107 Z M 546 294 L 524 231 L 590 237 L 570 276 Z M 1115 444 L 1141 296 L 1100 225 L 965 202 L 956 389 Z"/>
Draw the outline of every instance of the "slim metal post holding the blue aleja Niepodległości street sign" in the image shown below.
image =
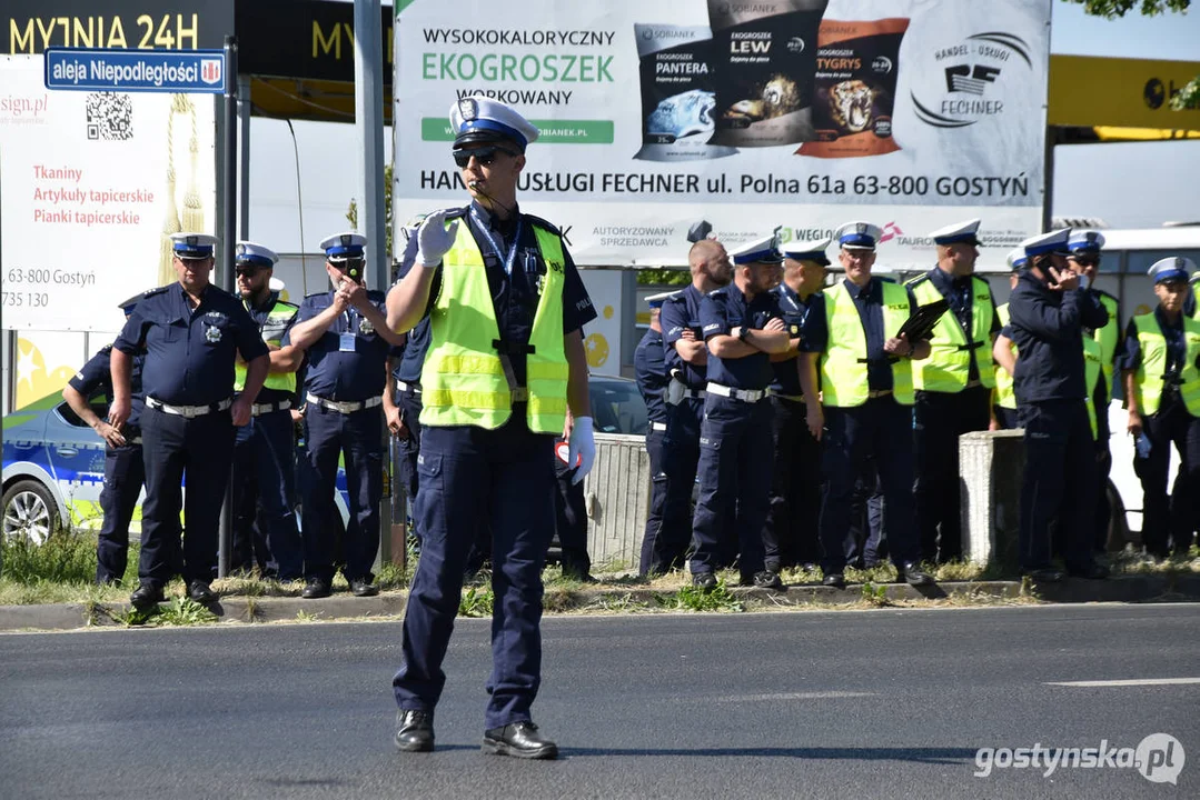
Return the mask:
<path id="1" fill-rule="evenodd" d="M 234 285 L 233 259 L 234 243 L 238 239 L 238 38 L 224 37 L 224 130 L 221 137 L 221 267 L 226 291 L 236 290 Z M 217 553 L 217 577 L 229 575 L 229 561 L 233 549 L 233 486 L 236 480 L 233 464 L 229 465 L 229 481 L 226 483 L 224 504 L 221 506 L 221 525 L 218 537 L 221 549 Z"/>

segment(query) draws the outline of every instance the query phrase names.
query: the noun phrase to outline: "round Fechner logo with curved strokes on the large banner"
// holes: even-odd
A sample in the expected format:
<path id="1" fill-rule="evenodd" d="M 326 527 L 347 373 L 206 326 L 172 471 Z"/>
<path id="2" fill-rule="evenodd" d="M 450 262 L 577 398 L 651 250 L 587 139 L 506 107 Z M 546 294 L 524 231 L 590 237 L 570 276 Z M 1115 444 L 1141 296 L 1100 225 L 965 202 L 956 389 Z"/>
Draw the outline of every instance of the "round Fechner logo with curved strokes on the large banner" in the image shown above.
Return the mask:
<path id="1" fill-rule="evenodd" d="M 911 92 L 917 118 L 938 128 L 962 128 L 1004 113 L 1004 101 L 990 90 L 1002 76 L 1014 70 L 1033 70 L 1028 43 L 1014 34 L 985 31 L 967 36 L 960 44 L 934 53 L 934 60 L 949 61 L 942 70 L 946 91 L 924 102 Z M 1025 62 L 1022 68 L 1021 61 Z"/>

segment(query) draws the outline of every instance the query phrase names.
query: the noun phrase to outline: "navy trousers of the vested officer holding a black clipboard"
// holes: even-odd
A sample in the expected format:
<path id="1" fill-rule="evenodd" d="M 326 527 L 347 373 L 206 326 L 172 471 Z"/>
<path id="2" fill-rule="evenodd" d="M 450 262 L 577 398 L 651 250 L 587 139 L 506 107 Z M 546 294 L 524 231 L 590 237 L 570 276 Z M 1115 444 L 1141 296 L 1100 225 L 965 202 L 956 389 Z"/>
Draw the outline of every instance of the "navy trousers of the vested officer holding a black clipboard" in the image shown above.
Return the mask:
<path id="1" fill-rule="evenodd" d="M 821 545 L 826 575 L 846 569 L 846 531 L 856 485 L 869 474 L 868 456 L 883 489 L 884 531 L 892 561 L 920 560 L 912 504 L 912 408 L 892 396 L 868 399 L 854 408 L 824 409 L 824 471 L 821 498 Z"/>

